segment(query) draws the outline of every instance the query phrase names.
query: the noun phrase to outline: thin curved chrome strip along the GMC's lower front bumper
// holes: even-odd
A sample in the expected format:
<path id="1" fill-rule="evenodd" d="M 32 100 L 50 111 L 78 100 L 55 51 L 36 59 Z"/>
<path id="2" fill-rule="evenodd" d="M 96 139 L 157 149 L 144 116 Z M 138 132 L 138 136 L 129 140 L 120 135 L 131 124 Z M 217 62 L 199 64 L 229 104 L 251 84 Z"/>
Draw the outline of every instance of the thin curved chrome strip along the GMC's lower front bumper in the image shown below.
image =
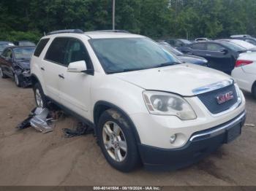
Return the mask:
<path id="1" fill-rule="evenodd" d="M 230 127 L 230 125 L 236 124 L 236 122 L 241 120 L 245 115 L 246 115 L 246 112 L 243 112 L 243 114 L 241 114 L 238 118 L 236 118 L 236 120 L 233 120 L 232 122 L 228 123 L 227 125 L 223 125 L 223 126 L 217 128 L 217 129 L 210 130 L 210 131 L 208 131 L 206 133 L 200 133 L 200 134 L 197 134 L 195 136 L 192 136 L 189 139 L 189 141 L 193 141 L 193 139 L 195 139 L 197 137 L 200 137 L 200 136 L 207 136 L 207 135 L 210 135 L 210 137 L 217 136 L 218 134 L 223 133 L 225 131 L 225 128 Z"/>

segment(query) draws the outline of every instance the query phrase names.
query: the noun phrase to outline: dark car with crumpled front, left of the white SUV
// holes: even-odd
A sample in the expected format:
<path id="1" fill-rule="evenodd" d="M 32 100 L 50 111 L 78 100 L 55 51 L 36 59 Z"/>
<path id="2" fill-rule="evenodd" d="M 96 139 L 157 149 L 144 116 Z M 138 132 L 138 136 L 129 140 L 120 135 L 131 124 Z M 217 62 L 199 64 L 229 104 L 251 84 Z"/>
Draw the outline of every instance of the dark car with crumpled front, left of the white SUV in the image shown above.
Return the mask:
<path id="1" fill-rule="evenodd" d="M 18 87 L 31 85 L 30 58 L 34 47 L 7 47 L 0 57 L 1 78 L 15 79 Z"/>

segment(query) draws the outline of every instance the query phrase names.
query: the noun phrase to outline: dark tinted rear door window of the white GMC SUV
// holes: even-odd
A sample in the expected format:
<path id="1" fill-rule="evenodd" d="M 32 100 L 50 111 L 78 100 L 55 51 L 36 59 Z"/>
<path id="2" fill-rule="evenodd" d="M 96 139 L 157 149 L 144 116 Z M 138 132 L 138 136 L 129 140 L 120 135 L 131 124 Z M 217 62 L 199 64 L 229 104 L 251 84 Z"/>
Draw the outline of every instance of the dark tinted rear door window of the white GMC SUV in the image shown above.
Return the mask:
<path id="1" fill-rule="evenodd" d="M 45 60 L 63 65 L 68 41 L 68 38 L 63 37 L 54 39 L 45 55 Z"/>

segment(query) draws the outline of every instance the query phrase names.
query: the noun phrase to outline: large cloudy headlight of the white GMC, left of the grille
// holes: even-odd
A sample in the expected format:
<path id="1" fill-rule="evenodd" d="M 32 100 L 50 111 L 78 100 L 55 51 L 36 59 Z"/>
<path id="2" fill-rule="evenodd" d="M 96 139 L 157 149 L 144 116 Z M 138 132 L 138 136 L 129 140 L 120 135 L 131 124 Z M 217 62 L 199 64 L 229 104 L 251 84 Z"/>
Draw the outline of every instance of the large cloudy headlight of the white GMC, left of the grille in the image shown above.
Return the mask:
<path id="1" fill-rule="evenodd" d="M 143 98 L 151 114 L 174 115 L 181 120 L 197 117 L 189 103 L 173 93 L 144 91 Z"/>

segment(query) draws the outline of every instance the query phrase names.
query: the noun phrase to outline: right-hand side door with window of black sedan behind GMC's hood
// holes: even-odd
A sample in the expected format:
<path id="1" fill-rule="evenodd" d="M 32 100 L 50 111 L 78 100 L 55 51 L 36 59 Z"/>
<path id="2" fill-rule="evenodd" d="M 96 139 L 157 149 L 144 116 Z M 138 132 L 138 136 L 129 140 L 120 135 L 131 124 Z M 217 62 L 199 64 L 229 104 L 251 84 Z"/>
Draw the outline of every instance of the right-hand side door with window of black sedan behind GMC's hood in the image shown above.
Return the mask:
<path id="1" fill-rule="evenodd" d="M 230 50 L 227 50 L 220 44 L 206 43 L 206 55 L 204 57 L 208 60 L 208 67 L 212 69 L 231 74 L 234 68 L 233 57 L 230 54 Z"/>

